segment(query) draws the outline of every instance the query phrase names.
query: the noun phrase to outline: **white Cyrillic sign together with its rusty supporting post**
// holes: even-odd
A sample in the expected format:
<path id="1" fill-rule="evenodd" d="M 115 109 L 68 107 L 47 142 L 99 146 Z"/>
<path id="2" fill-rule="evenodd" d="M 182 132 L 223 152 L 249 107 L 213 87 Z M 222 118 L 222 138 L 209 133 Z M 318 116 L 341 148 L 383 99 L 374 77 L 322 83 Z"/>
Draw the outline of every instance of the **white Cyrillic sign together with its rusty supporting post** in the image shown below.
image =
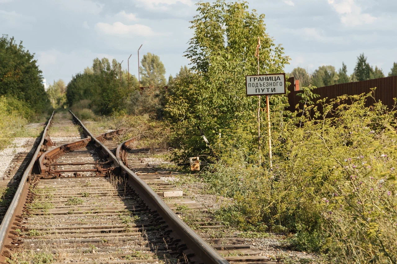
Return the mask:
<path id="1" fill-rule="evenodd" d="M 266 96 L 266 111 L 268 113 L 269 163 L 272 168 L 272 137 L 270 133 L 269 96 L 285 94 L 285 73 L 246 75 L 245 90 L 247 96 Z"/>

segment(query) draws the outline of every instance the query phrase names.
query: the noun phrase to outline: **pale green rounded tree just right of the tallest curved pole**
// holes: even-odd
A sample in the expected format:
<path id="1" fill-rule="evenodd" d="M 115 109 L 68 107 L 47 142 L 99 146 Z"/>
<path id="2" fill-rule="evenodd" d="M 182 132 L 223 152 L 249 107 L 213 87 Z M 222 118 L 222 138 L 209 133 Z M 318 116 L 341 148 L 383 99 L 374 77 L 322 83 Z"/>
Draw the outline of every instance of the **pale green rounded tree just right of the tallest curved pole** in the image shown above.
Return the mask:
<path id="1" fill-rule="evenodd" d="M 157 55 L 150 52 L 143 55 L 139 72 L 141 73 L 142 86 L 154 87 L 166 85 L 166 77 L 164 76 L 166 69 Z"/>

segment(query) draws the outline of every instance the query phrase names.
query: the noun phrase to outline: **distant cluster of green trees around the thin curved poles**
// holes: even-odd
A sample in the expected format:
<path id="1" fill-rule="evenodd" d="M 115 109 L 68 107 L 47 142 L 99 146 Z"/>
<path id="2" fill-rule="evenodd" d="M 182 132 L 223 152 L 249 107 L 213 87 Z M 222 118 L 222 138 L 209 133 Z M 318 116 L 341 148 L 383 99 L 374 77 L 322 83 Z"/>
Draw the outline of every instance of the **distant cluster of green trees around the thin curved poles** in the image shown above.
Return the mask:
<path id="1" fill-rule="evenodd" d="M 141 87 L 162 87 L 167 83 L 164 64 L 157 55 L 151 53 L 143 55 L 139 72 Z M 87 109 L 100 115 L 111 115 L 116 112 L 136 113 L 137 105 L 145 106 L 145 111 L 157 112 L 152 102 L 160 96 L 159 92 L 143 93 L 138 86 L 139 82 L 135 75 L 120 69 L 116 59 L 110 63 L 107 58 L 95 58 L 91 67 L 86 67 L 82 73 L 77 73 L 67 84 L 66 104 L 69 107 L 74 106 L 76 111 Z M 62 101 L 60 98 L 54 101 L 57 100 Z"/>

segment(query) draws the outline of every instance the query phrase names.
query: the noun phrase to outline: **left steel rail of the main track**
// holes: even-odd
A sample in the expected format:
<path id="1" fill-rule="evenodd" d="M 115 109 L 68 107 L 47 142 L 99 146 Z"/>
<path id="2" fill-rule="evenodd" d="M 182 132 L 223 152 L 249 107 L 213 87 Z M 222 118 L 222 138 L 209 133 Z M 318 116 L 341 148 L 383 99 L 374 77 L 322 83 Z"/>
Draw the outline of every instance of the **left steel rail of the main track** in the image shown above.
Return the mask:
<path id="1" fill-rule="evenodd" d="M 27 181 L 29 179 L 29 176 L 31 175 L 31 172 L 33 170 L 33 165 L 35 164 L 35 162 L 37 160 L 37 156 L 39 155 L 39 152 L 41 151 L 41 147 L 42 147 L 42 145 L 44 143 L 44 138 L 46 137 L 46 134 L 47 134 L 47 131 L 48 131 L 48 127 L 50 126 L 50 123 L 52 121 L 52 117 L 53 116 L 54 116 L 54 111 L 52 112 L 52 115 L 51 115 L 50 119 L 48 119 L 47 125 L 46 125 L 46 127 L 44 128 L 44 130 L 42 132 L 41 140 L 40 140 L 39 145 L 37 146 L 35 154 L 33 154 L 33 157 L 31 159 L 31 161 L 29 162 L 29 165 L 27 166 L 27 168 L 23 172 L 23 175 L 22 175 L 22 178 L 21 178 L 21 182 L 19 182 L 19 186 L 17 188 L 17 191 L 15 192 L 15 195 L 14 195 L 14 197 L 12 199 L 12 202 L 11 202 L 10 206 L 8 207 L 7 212 L 4 215 L 4 218 L 2 220 L 2 223 L 1 223 L 1 226 L 0 226 L 0 245 L 1 245 L 1 254 L 2 254 L 2 256 L 5 256 L 5 254 L 7 254 L 5 251 L 7 251 L 7 249 L 11 247 L 11 245 L 7 245 L 8 244 L 7 242 L 11 242 L 12 241 L 12 237 L 7 236 L 7 233 L 11 229 L 12 220 L 15 218 L 15 214 L 18 211 L 17 209 L 19 209 L 19 210 L 22 209 L 22 206 L 18 206 L 18 205 L 20 205 L 21 201 L 24 200 L 24 199 L 21 199 L 21 197 L 23 197 L 22 194 L 24 193 L 24 191 L 27 190 L 25 188 L 26 183 L 27 183 Z M 26 199 L 26 195 L 25 195 L 25 199 Z"/>

